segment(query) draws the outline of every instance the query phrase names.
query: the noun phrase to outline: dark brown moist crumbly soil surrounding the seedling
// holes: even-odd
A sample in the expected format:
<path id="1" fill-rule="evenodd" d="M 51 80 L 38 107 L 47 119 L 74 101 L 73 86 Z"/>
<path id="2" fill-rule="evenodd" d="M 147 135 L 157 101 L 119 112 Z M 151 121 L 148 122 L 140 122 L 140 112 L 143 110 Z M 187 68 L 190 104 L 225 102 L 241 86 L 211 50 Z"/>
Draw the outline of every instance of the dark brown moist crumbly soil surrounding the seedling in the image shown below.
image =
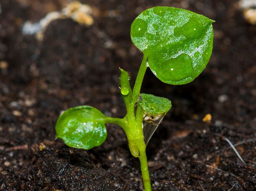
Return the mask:
<path id="1" fill-rule="evenodd" d="M 22 35 L 25 21 L 61 10 L 62 0 L 2 0 L 0 14 L 0 190 L 143 190 L 139 160 L 125 133 L 89 151 L 55 140 L 62 110 L 91 105 L 123 117 L 119 69 L 133 84 L 142 53 L 130 25 L 144 9 L 181 7 L 216 22 L 211 60 L 192 83 L 162 83 L 147 70 L 141 92 L 167 97 L 172 109 L 147 146 L 153 190 L 256 190 L 256 27 L 235 0 L 87 0 L 99 11 L 91 27 L 53 21 L 42 42 Z M 203 122 L 205 114 L 211 122 Z M 236 146 L 242 159 L 229 148 Z"/>

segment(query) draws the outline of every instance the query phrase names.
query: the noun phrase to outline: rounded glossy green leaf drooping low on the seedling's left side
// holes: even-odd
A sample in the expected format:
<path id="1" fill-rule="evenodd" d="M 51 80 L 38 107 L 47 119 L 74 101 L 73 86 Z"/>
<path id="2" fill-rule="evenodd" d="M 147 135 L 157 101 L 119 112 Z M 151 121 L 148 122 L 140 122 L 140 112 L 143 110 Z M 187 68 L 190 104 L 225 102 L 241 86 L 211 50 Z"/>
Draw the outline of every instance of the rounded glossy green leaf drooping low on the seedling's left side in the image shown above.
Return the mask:
<path id="1" fill-rule="evenodd" d="M 80 149 L 91 149 L 101 145 L 107 137 L 105 115 L 91 106 L 78 106 L 66 110 L 58 118 L 56 138 L 66 145 Z"/>

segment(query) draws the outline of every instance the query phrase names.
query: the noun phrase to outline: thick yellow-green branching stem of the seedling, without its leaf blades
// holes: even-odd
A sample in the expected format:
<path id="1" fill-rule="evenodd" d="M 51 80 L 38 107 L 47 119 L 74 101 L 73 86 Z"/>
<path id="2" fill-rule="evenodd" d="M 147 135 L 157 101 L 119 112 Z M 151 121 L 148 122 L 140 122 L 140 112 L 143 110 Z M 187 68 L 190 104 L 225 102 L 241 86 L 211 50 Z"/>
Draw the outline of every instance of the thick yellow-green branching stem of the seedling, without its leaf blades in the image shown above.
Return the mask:
<path id="1" fill-rule="evenodd" d="M 129 80 L 127 80 L 128 73 L 120 69 L 121 70 L 121 77 L 120 77 L 121 93 L 126 105 L 127 115 L 122 120 L 117 118 L 107 117 L 107 121 L 111 123 L 116 123 L 125 130 L 131 154 L 134 157 L 139 157 L 144 189 L 145 191 L 151 191 L 151 184 L 150 184 L 147 156 L 146 156 L 146 145 L 144 142 L 143 126 L 142 126 L 143 114 L 144 114 L 143 109 L 138 107 L 137 113 L 135 116 L 135 103 L 138 100 L 138 97 L 140 94 L 140 88 L 143 82 L 146 69 L 147 69 L 147 56 L 144 55 L 132 92 L 130 89 Z"/>

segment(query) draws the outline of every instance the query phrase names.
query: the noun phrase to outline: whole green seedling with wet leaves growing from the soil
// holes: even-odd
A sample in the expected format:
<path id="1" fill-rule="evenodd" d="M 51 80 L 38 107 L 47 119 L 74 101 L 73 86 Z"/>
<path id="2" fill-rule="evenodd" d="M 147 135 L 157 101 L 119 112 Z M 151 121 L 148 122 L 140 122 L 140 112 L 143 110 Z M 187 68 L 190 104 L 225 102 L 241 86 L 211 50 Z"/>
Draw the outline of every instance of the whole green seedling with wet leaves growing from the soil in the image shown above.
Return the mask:
<path id="1" fill-rule="evenodd" d="M 150 191 L 146 145 L 172 105 L 167 98 L 140 94 L 145 71 L 149 67 L 167 84 L 181 85 L 194 80 L 212 53 L 212 22 L 203 15 L 173 7 L 143 11 L 131 25 L 131 40 L 144 55 L 133 89 L 128 73 L 120 68 L 126 116 L 107 117 L 91 106 L 70 108 L 58 118 L 56 138 L 70 147 L 88 150 L 106 140 L 105 124 L 121 126 L 131 154 L 139 158 L 144 189 Z"/>

